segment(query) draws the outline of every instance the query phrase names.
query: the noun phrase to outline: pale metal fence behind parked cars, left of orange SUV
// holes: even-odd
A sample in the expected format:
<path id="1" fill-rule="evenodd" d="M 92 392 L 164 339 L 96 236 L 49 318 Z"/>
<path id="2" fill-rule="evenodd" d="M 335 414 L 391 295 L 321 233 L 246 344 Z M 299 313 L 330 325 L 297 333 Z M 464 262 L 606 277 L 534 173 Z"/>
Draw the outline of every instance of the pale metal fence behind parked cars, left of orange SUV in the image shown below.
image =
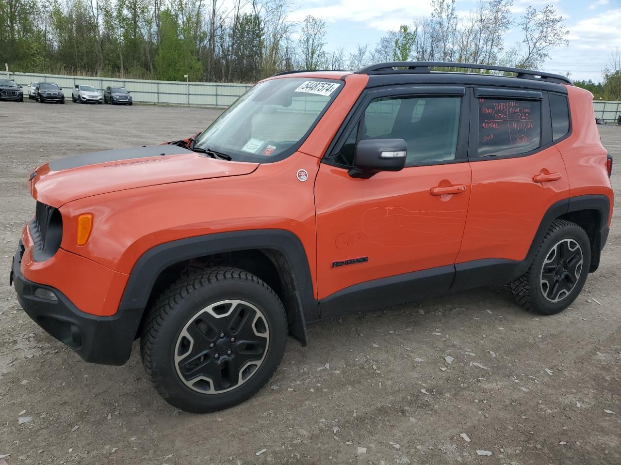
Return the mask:
<path id="1" fill-rule="evenodd" d="M 5 74 L 1 73 L 0 78 L 4 78 Z M 88 78 L 36 73 L 8 73 L 8 79 L 13 79 L 20 86 L 30 86 L 30 82 L 55 82 L 65 91 L 65 98 L 71 97 L 71 89 L 76 84 L 82 84 L 93 86 L 102 92 L 108 86 L 125 87 L 131 92 L 134 102 L 219 108 L 228 107 L 237 100 L 237 97 L 252 87 L 252 84 L 224 82 L 148 81 L 146 79 Z"/>

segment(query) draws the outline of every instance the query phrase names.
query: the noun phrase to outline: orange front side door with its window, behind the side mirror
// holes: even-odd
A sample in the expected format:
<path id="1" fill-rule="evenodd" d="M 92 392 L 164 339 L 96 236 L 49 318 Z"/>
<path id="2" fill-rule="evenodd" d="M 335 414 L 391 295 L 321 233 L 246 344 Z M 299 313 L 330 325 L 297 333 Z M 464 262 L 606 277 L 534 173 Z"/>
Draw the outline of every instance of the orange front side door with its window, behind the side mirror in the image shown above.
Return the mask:
<path id="1" fill-rule="evenodd" d="M 315 181 L 322 317 L 447 290 L 470 195 L 465 87 L 368 91 Z M 406 167 L 350 177 L 356 141 L 400 138 Z"/>

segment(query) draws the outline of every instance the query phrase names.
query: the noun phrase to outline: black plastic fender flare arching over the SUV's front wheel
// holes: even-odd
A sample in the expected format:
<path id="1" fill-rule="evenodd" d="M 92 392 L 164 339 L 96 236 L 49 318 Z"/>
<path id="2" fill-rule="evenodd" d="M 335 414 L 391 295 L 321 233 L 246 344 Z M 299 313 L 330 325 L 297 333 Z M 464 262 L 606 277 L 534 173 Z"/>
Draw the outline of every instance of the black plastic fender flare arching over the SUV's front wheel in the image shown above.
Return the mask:
<path id="1" fill-rule="evenodd" d="M 291 272 L 296 305 L 289 317 L 289 331 L 306 345 L 306 321 L 319 319 L 311 269 L 300 239 L 284 229 L 253 229 L 216 232 L 165 242 L 144 252 L 132 268 L 119 304 L 119 311 L 144 311 L 153 285 L 163 270 L 184 260 L 240 250 L 276 250 L 285 257 Z"/>

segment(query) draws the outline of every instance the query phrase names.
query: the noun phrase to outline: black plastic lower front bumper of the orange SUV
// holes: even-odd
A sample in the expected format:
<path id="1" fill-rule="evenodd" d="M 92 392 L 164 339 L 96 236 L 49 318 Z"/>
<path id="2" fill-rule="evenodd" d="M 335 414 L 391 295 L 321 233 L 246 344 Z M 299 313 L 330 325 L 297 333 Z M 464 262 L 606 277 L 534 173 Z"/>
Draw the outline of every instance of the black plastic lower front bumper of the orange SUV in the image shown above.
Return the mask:
<path id="1" fill-rule="evenodd" d="M 58 289 L 25 279 L 20 270 L 23 254 L 24 244 L 19 241 L 11 282 L 15 285 L 17 301 L 28 316 L 85 361 L 123 365 L 132 351 L 142 312 L 119 311 L 114 316 L 84 313 Z M 37 289 L 52 291 L 58 300 L 35 295 Z"/>

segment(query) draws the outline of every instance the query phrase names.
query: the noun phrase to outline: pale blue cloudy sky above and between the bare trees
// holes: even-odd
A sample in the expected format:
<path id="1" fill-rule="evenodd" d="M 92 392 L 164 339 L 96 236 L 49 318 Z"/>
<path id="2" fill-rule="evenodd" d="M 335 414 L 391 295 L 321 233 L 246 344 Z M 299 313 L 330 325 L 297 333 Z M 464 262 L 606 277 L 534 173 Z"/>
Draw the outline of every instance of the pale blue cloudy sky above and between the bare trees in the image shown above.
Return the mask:
<path id="1" fill-rule="evenodd" d="M 621 0 L 514 0 L 512 12 L 518 18 L 528 6 L 540 9 L 553 4 L 566 20 L 569 46 L 554 49 L 541 71 L 565 74 L 571 79 L 601 81 L 610 53 L 621 50 Z M 466 14 L 476 0 L 456 0 L 455 8 Z M 301 21 L 307 14 L 327 24 L 327 50 L 344 47 L 346 55 L 360 43 L 369 49 L 389 30 L 412 24 L 414 17 L 429 15 L 428 0 L 294 0 L 289 19 Z M 510 30 L 508 45 L 519 40 L 519 29 Z"/>

